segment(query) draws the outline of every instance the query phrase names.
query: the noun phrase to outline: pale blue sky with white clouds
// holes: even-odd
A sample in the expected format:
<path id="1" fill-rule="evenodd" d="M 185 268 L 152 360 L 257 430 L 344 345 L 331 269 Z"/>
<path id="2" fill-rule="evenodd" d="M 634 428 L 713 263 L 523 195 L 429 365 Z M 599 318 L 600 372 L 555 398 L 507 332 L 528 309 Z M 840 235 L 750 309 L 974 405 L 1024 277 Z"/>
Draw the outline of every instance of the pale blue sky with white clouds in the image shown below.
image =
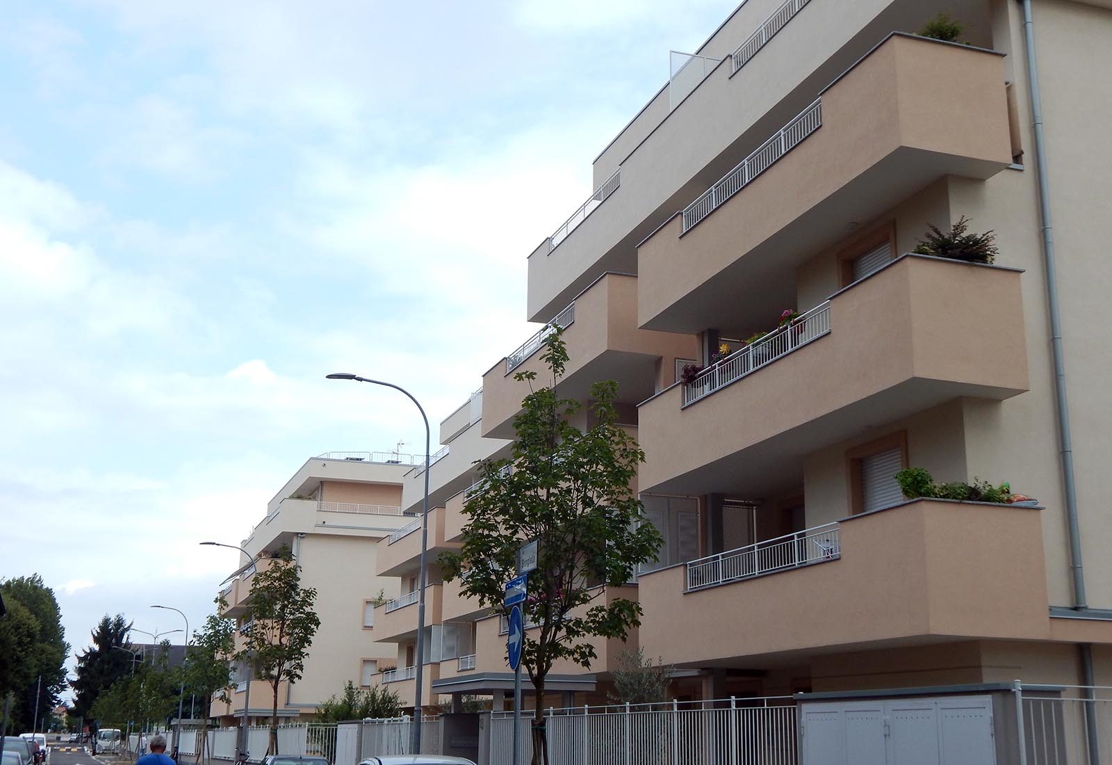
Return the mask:
<path id="1" fill-rule="evenodd" d="M 76 652 L 183 628 L 155 603 L 199 626 L 238 565 L 199 542 L 308 457 L 423 450 L 325 374 L 463 404 L 537 328 L 526 256 L 736 3 L 0 0 L 0 579 L 40 574 Z"/>

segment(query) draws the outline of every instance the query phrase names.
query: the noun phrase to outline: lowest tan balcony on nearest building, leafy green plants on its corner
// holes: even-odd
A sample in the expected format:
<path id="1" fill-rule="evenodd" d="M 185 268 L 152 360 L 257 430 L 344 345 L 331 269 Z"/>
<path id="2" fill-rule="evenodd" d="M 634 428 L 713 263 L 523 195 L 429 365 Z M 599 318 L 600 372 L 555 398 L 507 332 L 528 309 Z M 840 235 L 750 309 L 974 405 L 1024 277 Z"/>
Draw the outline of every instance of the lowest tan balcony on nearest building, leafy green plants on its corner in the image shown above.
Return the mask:
<path id="1" fill-rule="evenodd" d="M 762 655 L 864 644 L 1048 639 L 1037 508 L 921 499 L 844 518 L 836 528 L 836 548 L 817 544 L 832 538 L 828 529 L 793 545 L 813 552 L 812 565 L 782 558 L 778 573 L 697 588 L 689 587 L 693 576 L 712 584 L 706 560 L 642 575 L 645 654 L 687 666 L 761 666 Z"/>

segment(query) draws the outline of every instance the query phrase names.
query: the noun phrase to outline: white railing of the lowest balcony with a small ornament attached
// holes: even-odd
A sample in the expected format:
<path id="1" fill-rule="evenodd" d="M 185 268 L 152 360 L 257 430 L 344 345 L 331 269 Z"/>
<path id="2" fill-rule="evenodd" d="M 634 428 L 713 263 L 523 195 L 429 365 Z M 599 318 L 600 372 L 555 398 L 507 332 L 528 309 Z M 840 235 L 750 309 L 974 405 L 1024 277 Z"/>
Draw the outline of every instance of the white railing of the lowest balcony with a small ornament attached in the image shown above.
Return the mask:
<path id="1" fill-rule="evenodd" d="M 687 564 L 687 589 L 775 574 L 842 557 L 838 525 L 825 524 Z"/>

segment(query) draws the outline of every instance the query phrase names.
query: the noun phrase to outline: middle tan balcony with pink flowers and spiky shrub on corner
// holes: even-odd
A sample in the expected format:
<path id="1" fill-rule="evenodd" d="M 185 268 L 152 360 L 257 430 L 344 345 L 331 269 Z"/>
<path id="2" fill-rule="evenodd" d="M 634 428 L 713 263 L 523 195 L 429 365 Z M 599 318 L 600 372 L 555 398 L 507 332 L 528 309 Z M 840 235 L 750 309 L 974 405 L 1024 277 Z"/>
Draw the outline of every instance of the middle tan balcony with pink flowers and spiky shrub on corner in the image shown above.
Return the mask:
<path id="1" fill-rule="evenodd" d="M 909 255 L 639 407 L 642 491 L 766 490 L 783 460 L 959 396 L 1027 389 L 1021 272 Z M 780 338 L 780 339 L 777 339 Z"/>

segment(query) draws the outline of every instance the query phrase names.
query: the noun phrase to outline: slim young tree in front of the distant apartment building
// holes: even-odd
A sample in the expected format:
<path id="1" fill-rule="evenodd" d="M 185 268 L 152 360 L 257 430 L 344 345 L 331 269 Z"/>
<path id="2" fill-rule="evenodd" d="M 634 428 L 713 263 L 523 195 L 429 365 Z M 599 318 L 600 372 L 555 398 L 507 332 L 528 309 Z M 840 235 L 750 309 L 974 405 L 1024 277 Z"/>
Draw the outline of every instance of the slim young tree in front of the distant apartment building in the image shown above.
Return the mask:
<path id="1" fill-rule="evenodd" d="M 312 610 L 316 599 L 315 588 L 301 587 L 301 567 L 289 547 L 282 546 L 270 565 L 255 575 L 244 604 L 247 620 L 239 634 L 245 645 L 236 658 L 252 664 L 274 691 L 267 754 L 278 754 L 278 688 L 282 680 L 301 679 L 312 636 L 320 626 Z"/>

